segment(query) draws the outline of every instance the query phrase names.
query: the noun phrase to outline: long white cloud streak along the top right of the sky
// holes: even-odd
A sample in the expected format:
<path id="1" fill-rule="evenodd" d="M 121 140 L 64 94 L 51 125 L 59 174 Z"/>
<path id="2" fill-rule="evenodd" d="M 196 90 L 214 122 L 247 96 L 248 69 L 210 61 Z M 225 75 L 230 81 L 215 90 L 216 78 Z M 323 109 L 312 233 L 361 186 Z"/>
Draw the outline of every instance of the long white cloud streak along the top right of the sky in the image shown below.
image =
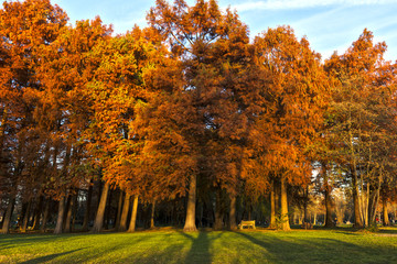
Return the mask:
<path id="1" fill-rule="evenodd" d="M 249 1 L 245 3 L 233 4 L 232 9 L 239 12 L 251 10 L 281 10 L 281 9 L 302 9 L 318 8 L 326 6 L 367 6 L 367 4 L 393 4 L 397 0 L 267 0 Z"/>

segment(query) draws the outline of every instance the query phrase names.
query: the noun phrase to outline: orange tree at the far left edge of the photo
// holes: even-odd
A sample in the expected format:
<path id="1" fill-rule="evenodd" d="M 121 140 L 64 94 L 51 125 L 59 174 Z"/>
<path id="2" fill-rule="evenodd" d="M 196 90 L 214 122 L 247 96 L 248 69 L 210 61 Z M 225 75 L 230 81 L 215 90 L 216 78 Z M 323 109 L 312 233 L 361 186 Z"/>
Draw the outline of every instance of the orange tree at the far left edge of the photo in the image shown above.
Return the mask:
<path id="1" fill-rule="evenodd" d="M 7 138 L 2 144 L 12 143 L 2 150 L 9 154 L 11 169 L 7 172 L 9 207 L 13 207 L 18 186 L 23 189 L 22 198 L 32 199 L 35 193 L 41 194 L 37 167 L 42 165 L 41 155 L 44 139 L 47 134 L 36 129 L 39 120 L 36 113 L 40 90 L 43 84 L 39 79 L 39 65 L 43 59 L 41 50 L 53 43 L 60 29 L 67 22 L 66 14 L 49 0 L 28 0 L 23 2 L 4 2 L 0 11 L 0 34 L 2 41 L 1 70 L 1 108 L 2 130 Z M 43 147 L 43 148 L 42 148 Z M 3 155 L 3 154 L 2 154 Z M 8 232 L 12 209 L 8 210 L 7 224 L 3 232 Z"/>

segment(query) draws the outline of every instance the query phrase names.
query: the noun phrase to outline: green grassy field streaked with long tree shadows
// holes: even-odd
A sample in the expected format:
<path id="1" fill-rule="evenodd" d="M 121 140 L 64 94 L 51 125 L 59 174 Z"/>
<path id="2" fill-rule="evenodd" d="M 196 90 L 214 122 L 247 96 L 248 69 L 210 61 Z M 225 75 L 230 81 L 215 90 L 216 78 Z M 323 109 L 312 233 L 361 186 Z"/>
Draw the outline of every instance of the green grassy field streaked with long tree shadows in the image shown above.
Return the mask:
<path id="1" fill-rule="evenodd" d="M 0 263 L 397 263 L 397 229 L 0 234 Z"/>

